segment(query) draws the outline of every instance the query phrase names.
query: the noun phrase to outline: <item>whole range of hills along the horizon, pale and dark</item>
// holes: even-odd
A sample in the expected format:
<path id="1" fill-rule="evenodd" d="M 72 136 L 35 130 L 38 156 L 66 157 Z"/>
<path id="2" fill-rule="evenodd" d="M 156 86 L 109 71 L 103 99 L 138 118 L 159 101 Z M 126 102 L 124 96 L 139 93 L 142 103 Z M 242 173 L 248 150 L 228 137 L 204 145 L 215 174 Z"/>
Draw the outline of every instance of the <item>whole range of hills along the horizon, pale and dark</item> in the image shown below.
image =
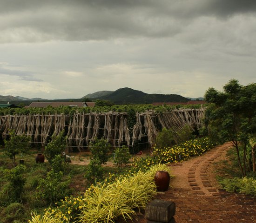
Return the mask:
<path id="1" fill-rule="evenodd" d="M 76 99 L 54 99 L 48 100 L 43 98 L 24 98 L 21 96 L 13 97 L 11 95 L 0 95 L 0 104 L 9 102 L 10 104 L 24 103 L 28 104 L 32 101 L 83 101 L 85 98 L 90 100 L 109 100 L 117 105 L 123 104 L 151 104 L 153 102 L 187 102 L 189 100 L 203 100 L 203 98 L 185 98 L 178 94 L 148 94 L 132 88 L 124 87 L 116 91 L 100 91 L 85 95 L 82 98 Z"/>

